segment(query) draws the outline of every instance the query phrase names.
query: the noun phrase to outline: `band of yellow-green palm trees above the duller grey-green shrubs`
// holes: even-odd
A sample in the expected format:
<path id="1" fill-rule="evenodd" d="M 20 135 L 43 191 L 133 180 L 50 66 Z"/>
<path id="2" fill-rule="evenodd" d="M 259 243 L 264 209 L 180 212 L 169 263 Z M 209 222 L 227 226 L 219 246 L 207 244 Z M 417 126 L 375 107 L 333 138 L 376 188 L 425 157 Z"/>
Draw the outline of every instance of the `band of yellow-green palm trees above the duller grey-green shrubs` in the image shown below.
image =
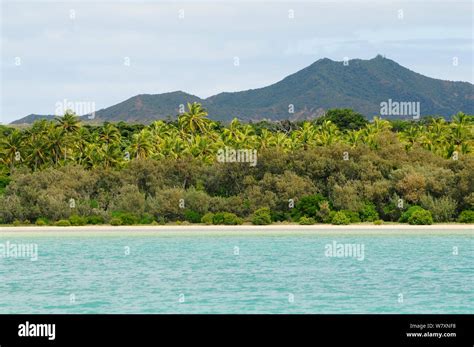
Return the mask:
<path id="1" fill-rule="evenodd" d="M 296 130 L 292 130 L 293 124 L 290 124 L 285 130 L 274 132 L 271 130 L 274 125 L 242 124 L 238 119 L 224 127 L 207 119 L 206 111 L 197 103 L 188 104 L 188 109 L 177 122 L 156 121 L 146 127 L 111 123 L 81 127 L 77 117 L 66 112 L 54 122 L 41 120 L 23 131 L 9 130 L 6 136 L 0 134 L 0 163 L 3 164 L 0 170 L 9 168 L 11 171 L 20 163 L 37 170 L 47 165 L 61 165 L 67 159 L 88 168 L 116 167 L 124 163 L 125 149 L 136 159 L 193 156 L 206 163 L 213 162 L 216 150 L 225 146 L 295 151 L 344 142 L 351 147 L 367 143 L 377 149 L 380 139 L 391 128 L 391 123 L 375 118 L 358 131 L 341 132 L 335 124 L 326 121 L 318 126 L 303 122 Z M 472 119 L 463 113 L 457 114 L 450 123 L 433 118 L 425 126 L 415 123 L 398 132 L 398 136 L 406 150 L 420 145 L 446 158 L 455 151 L 471 153 L 474 147 Z M 21 153 L 20 158 L 18 153 Z"/>

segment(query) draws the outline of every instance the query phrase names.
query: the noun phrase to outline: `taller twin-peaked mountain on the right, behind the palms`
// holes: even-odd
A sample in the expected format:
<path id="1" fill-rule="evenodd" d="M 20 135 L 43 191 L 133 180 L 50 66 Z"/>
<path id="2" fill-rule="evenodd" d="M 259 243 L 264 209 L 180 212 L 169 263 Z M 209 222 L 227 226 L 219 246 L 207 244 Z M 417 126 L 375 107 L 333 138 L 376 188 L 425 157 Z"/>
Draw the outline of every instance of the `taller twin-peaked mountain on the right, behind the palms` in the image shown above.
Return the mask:
<path id="1" fill-rule="evenodd" d="M 352 108 L 370 118 L 380 114 L 380 103 L 420 102 L 422 115 L 473 113 L 474 89 L 467 82 L 425 77 L 396 62 L 377 56 L 342 62 L 321 59 L 271 86 L 208 98 L 217 105 L 216 117 L 314 117 L 330 108 Z M 295 114 L 288 114 L 292 104 Z M 222 110 L 222 111 L 219 111 Z M 230 112 L 229 112 L 230 111 Z"/>

